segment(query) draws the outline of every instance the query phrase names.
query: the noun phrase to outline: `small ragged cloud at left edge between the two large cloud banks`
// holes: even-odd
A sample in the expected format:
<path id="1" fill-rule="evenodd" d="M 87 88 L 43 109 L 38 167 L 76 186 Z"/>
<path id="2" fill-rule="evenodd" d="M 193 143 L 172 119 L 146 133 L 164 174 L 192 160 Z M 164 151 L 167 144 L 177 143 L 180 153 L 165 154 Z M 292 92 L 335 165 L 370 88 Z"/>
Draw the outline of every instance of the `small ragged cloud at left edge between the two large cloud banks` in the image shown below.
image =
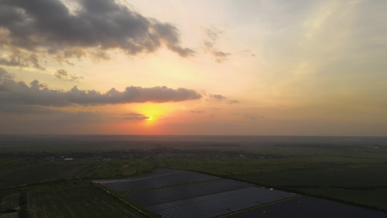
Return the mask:
<path id="1" fill-rule="evenodd" d="M 33 67 L 40 70 L 45 70 L 46 68 L 39 64 L 38 55 L 36 54 L 26 54 L 25 52 L 12 51 L 12 54 L 8 57 L 0 58 L 0 65 L 12 66 L 12 67 Z"/>

